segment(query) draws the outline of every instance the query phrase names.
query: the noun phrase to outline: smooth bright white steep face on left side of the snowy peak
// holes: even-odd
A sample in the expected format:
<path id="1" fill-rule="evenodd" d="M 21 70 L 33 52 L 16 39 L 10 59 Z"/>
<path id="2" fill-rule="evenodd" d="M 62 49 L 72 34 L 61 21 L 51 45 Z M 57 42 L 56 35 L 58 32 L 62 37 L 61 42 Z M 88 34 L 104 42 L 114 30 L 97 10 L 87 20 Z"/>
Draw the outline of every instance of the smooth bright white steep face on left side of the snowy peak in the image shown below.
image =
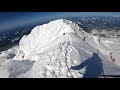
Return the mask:
<path id="1" fill-rule="evenodd" d="M 63 19 L 35 27 L 28 36 L 20 40 L 20 49 L 25 53 L 24 59 L 44 52 L 56 38 L 70 32 L 73 32 L 73 29 Z"/>

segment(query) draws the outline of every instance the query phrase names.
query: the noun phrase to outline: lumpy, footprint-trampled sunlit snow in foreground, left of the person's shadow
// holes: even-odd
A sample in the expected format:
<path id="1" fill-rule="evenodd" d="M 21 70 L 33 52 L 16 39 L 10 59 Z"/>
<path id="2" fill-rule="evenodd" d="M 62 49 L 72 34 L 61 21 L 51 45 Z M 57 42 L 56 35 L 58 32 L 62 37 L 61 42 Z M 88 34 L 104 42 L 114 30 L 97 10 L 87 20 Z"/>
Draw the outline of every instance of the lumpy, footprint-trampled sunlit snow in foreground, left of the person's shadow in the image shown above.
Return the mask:
<path id="1" fill-rule="evenodd" d="M 18 78 L 81 78 L 79 71 L 69 70 L 72 65 L 80 63 L 79 56 L 71 59 L 72 47 L 63 42 L 45 53 L 36 55 L 37 61 L 31 70 L 20 74 Z"/>

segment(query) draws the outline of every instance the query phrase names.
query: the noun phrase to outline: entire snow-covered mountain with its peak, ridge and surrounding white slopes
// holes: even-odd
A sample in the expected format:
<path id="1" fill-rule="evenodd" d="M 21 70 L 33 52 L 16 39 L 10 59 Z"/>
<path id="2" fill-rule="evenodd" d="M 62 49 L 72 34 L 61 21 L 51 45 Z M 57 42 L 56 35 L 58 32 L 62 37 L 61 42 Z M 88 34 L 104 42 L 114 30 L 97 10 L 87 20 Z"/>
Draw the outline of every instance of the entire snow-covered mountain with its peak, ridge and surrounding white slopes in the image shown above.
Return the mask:
<path id="1" fill-rule="evenodd" d="M 0 78 L 120 75 L 119 41 L 98 38 L 69 20 L 54 20 L 36 26 L 19 46 L 0 53 Z"/>

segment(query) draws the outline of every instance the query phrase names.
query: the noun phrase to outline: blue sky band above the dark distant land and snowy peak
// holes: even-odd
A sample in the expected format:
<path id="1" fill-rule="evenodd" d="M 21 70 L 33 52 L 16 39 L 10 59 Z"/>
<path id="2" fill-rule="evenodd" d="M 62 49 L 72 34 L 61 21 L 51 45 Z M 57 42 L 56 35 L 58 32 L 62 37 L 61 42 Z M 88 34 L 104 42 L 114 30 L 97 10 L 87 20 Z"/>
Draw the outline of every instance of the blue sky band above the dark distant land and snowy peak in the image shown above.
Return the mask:
<path id="1" fill-rule="evenodd" d="M 0 31 L 47 19 L 73 16 L 120 16 L 120 12 L 0 12 Z"/>

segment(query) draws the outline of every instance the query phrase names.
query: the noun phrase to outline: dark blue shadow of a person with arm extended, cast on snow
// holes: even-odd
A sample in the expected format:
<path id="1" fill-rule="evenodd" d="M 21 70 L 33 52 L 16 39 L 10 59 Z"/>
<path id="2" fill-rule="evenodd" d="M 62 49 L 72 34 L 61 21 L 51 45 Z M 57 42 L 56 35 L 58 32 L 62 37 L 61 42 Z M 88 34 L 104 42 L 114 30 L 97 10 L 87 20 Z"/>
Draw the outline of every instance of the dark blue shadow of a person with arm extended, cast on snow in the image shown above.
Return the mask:
<path id="1" fill-rule="evenodd" d="M 102 60 L 99 58 L 98 54 L 93 53 L 93 56 L 78 66 L 72 66 L 73 70 L 80 70 L 86 67 L 86 71 L 83 74 L 83 78 L 98 78 L 103 73 Z"/>

